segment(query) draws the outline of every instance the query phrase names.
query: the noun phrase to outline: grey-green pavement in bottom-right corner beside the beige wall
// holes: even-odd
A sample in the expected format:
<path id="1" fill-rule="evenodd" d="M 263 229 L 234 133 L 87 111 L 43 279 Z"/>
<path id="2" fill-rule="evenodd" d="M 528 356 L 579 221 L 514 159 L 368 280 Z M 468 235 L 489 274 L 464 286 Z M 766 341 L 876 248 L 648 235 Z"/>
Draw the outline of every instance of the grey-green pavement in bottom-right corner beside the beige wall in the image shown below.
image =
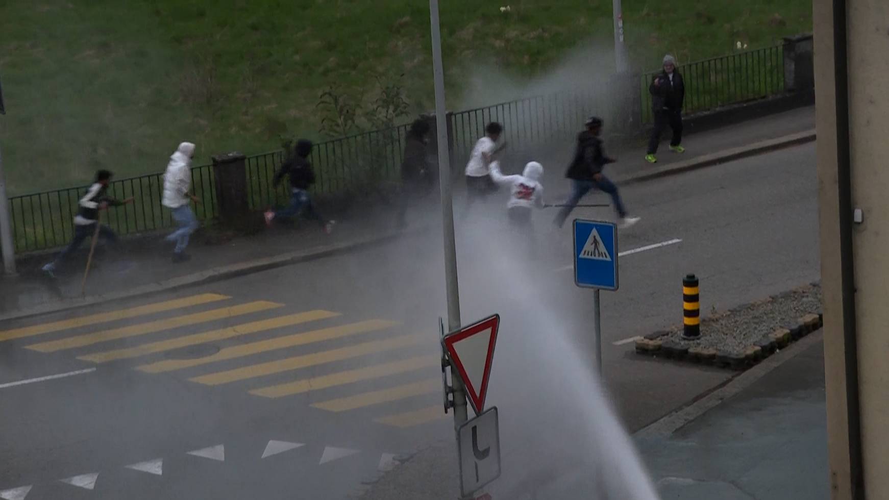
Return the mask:
<path id="1" fill-rule="evenodd" d="M 822 334 L 667 437 L 638 437 L 663 500 L 829 500 Z"/>

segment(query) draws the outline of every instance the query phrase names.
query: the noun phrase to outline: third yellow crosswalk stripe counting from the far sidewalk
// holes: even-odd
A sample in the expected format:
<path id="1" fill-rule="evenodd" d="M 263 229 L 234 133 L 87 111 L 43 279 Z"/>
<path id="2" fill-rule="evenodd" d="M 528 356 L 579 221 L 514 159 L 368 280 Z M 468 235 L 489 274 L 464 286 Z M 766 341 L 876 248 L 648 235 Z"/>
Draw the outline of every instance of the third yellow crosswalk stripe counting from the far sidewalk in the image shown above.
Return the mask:
<path id="1" fill-rule="evenodd" d="M 206 344 L 207 342 L 215 342 L 218 340 L 224 340 L 226 338 L 248 335 L 267 329 L 276 329 L 298 325 L 300 323 L 305 323 L 308 321 L 324 320 L 339 315 L 340 313 L 332 313 L 331 311 L 321 310 L 308 311 L 305 313 L 287 314 L 285 316 L 278 316 L 276 318 L 270 318 L 268 320 L 251 321 L 249 323 L 242 323 L 233 327 L 214 329 L 211 331 L 204 331 L 193 335 L 170 338 L 167 340 L 159 340 L 150 344 L 136 345 L 135 347 L 127 347 L 124 349 L 117 349 L 115 351 L 85 354 L 83 356 L 78 356 L 77 359 L 83 361 L 92 361 L 96 363 L 104 363 L 108 361 L 136 358 L 139 356 L 144 356 L 146 354 L 163 353 L 164 351 L 172 351 L 173 349 L 188 347 L 190 345 Z M 201 360 L 204 359 L 206 358 L 201 358 Z"/>

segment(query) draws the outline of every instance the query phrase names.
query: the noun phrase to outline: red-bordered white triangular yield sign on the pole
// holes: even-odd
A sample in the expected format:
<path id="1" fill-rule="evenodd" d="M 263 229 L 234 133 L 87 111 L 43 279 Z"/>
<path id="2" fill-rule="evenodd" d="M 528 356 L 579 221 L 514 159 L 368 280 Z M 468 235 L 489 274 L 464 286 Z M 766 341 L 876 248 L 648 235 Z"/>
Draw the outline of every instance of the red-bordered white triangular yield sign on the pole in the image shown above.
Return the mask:
<path id="1" fill-rule="evenodd" d="M 491 361 L 497 344 L 500 315 L 478 321 L 449 333 L 442 342 L 451 357 L 453 366 L 460 372 L 469 403 L 479 415 L 485 409 L 488 379 L 491 377 Z"/>

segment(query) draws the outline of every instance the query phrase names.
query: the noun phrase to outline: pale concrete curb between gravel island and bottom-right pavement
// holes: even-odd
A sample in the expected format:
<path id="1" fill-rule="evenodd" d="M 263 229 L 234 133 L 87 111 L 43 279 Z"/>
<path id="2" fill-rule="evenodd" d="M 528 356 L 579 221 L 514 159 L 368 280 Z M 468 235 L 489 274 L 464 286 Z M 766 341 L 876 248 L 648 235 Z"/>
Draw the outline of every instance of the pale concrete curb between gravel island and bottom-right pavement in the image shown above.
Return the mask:
<path id="1" fill-rule="evenodd" d="M 638 440 L 669 438 L 670 435 L 676 433 L 679 429 L 682 429 L 685 425 L 693 422 L 698 417 L 701 417 L 701 415 L 707 413 L 710 409 L 715 408 L 722 401 L 731 398 L 737 393 L 741 393 L 741 391 L 754 385 L 760 378 L 765 377 L 765 375 L 773 369 L 776 369 L 785 362 L 795 358 L 797 354 L 805 352 L 807 347 L 821 343 L 822 340 L 823 334 L 821 333 L 814 333 L 813 335 L 801 339 L 797 342 L 798 345 L 796 348 L 776 353 L 768 360 L 759 363 L 756 367 L 741 373 L 741 375 L 738 375 L 737 377 L 733 377 L 725 383 L 725 385 L 722 385 L 715 391 L 697 401 L 693 401 L 684 408 L 673 411 L 666 417 L 661 417 L 661 419 L 653 424 L 645 426 L 643 429 L 634 433 L 633 437 Z"/>

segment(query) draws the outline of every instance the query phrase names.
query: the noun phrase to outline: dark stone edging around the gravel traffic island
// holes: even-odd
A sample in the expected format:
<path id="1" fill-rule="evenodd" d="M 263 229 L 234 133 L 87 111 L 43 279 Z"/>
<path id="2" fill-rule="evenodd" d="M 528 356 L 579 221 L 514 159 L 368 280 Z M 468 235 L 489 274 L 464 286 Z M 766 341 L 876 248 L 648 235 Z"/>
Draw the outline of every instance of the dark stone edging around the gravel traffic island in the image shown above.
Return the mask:
<path id="1" fill-rule="evenodd" d="M 717 321 L 719 318 L 732 314 L 734 310 L 746 309 L 749 306 L 756 306 L 757 304 L 769 302 L 775 298 L 781 298 L 789 293 L 793 293 L 796 290 L 801 290 L 801 288 L 805 289 L 806 287 L 812 287 L 815 284 L 816 283 L 811 283 L 805 287 L 785 291 L 765 298 L 764 300 L 744 304 L 735 307 L 733 310 L 726 313 L 719 313 L 707 318 L 704 321 Z M 775 325 L 775 329 L 771 334 L 761 337 L 752 345 L 747 345 L 739 351 L 732 352 L 717 351 L 712 348 L 688 347 L 672 340 L 664 341 L 661 340 L 661 338 L 668 336 L 671 332 L 661 330 L 637 340 L 636 352 L 644 356 L 666 358 L 673 361 L 696 365 L 703 364 L 716 366 L 718 368 L 745 370 L 757 365 L 757 363 L 765 360 L 773 353 L 779 353 L 781 349 L 784 349 L 791 343 L 821 329 L 822 325 L 823 319 L 820 312 L 807 313 L 795 323 Z"/>

